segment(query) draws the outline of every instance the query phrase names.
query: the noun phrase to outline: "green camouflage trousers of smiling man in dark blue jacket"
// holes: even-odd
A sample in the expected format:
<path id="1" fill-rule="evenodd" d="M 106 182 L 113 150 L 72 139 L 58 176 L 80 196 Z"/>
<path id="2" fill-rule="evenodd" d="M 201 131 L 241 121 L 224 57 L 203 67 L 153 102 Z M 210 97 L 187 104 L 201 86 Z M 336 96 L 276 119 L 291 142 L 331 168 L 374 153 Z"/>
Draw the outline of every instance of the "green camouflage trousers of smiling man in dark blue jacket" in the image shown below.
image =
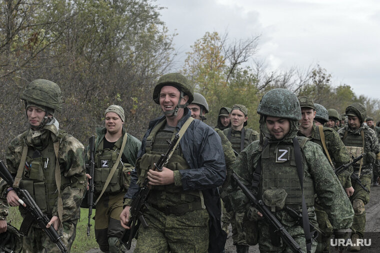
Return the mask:
<path id="1" fill-rule="evenodd" d="M 149 207 L 144 217 L 149 227 L 140 226 L 135 253 L 207 253 L 209 217 L 205 209 L 165 215 Z"/>

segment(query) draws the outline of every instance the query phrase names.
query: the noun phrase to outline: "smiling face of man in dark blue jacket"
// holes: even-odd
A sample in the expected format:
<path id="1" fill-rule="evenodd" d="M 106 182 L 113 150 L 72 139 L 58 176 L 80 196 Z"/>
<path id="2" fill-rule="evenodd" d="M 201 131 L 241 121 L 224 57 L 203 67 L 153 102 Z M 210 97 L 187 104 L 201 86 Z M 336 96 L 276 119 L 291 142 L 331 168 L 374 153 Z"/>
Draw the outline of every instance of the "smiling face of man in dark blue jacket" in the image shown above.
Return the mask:
<path id="1" fill-rule="evenodd" d="M 181 93 L 179 90 L 173 86 L 163 86 L 159 92 L 159 105 L 163 112 L 174 110 L 177 106 Z M 188 96 L 183 96 L 180 104 L 185 104 L 188 100 Z M 178 110 L 183 110 L 179 108 Z"/>

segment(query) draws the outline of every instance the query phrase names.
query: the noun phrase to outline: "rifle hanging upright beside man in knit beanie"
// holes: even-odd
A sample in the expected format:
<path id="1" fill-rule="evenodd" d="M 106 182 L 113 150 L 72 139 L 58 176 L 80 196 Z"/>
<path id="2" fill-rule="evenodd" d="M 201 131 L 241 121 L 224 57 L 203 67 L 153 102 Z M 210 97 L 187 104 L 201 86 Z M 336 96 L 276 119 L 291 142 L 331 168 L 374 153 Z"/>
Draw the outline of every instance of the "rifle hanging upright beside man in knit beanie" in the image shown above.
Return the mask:
<path id="1" fill-rule="evenodd" d="M 93 183 L 93 174 L 95 169 L 95 136 L 89 137 L 89 162 L 88 162 L 88 174 L 91 176 L 91 179 L 88 182 L 88 191 L 87 191 L 87 205 L 88 205 L 88 223 L 87 223 L 87 237 L 89 237 L 90 227 L 92 226 L 91 215 L 92 215 L 92 206 L 93 206 L 93 193 L 95 192 L 95 184 Z"/>

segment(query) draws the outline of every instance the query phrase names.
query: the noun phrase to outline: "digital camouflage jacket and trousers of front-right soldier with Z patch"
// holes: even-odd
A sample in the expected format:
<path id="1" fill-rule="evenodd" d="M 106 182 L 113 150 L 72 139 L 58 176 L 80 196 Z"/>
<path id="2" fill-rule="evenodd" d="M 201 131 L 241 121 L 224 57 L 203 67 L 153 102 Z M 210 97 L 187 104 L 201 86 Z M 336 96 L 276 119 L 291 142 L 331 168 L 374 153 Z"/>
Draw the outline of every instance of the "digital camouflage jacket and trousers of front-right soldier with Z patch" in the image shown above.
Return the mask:
<path id="1" fill-rule="evenodd" d="M 290 132 L 281 141 L 269 140 L 268 145 L 280 146 L 282 143 L 291 143 L 291 139 L 296 135 L 298 131 L 298 122 L 296 120 L 290 120 Z M 264 119 L 260 119 L 260 131 L 270 138 L 270 134 L 266 128 Z M 325 209 L 328 214 L 331 214 L 330 222 L 333 229 L 347 229 L 352 224 L 353 210 L 351 204 L 339 184 L 339 181 L 331 167 L 329 162 L 322 153 L 320 146 L 312 142 L 307 141 L 303 147 L 304 161 L 304 177 L 310 177 L 314 183 L 314 191 L 317 194 L 320 205 Z M 247 187 L 251 186 L 252 175 L 254 168 L 256 168 L 257 163 L 260 158 L 261 148 L 258 141 L 251 143 L 246 147 L 237 157 L 235 164 L 233 166 L 234 172 L 240 177 L 240 180 Z M 295 167 L 294 167 L 295 168 Z M 262 170 L 265 170 L 265 165 L 262 165 Z M 273 171 L 275 168 L 273 168 Z M 261 188 L 261 184 L 259 185 Z M 259 191 L 261 191 L 259 189 Z M 243 193 L 236 188 L 228 188 L 228 195 L 225 202 L 228 202 L 235 211 L 244 211 L 246 204 L 248 203 L 247 198 Z M 258 196 L 260 197 L 260 196 Z M 249 207 L 249 205 L 248 205 Z M 301 210 L 297 210 L 301 212 Z M 316 216 L 314 212 L 314 207 L 310 206 L 307 208 L 310 223 L 317 226 Z M 280 210 L 276 212 L 278 220 L 284 225 L 285 229 L 289 232 L 291 236 L 299 243 L 306 251 L 305 241 L 303 235 L 303 228 L 299 226 L 290 215 L 284 211 Z M 259 220 L 258 223 L 258 244 L 260 252 L 289 252 L 290 250 L 286 245 L 281 245 L 279 247 L 274 246 L 269 237 L 269 228 L 267 224 Z M 316 242 L 313 243 L 312 251 L 315 251 Z"/>

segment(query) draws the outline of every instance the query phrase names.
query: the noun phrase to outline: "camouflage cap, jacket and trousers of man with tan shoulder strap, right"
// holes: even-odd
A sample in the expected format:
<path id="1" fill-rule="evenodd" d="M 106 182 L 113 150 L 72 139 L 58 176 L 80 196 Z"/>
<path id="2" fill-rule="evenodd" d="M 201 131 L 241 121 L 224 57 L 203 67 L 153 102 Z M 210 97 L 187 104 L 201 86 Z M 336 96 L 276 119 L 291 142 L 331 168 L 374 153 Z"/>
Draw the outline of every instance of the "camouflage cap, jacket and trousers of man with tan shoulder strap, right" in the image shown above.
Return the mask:
<path id="1" fill-rule="evenodd" d="M 309 108 L 314 109 L 312 106 L 313 105 L 315 106 L 315 104 L 313 104 L 311 98 L 298 97 L 298 99 L 299 99 L 301 108 L 309 107 Z M 319 110 L 321 110 L 322 108 L 319 106 L 318 107 L 315 106 L 315 109 L 318 108 Z M 311 136 L 304 136 L 300 131 L 298 131 L 298 136 L 306 137 L 310 141 L 318 144 L 322 148 L 323 154 L 328 159 L 328 156 L 326 155 L 326 152 L 323 148 L 322 138 L 319 132 L 319 127 L 316 126 L 314 122 L 312 124 Z M 347 164 L 350 162 L 350 158 L 347 153 L 347 150 L 345 149 L 345 146 L 343 142 L 340 140 L 339 135 L 336 131 L 334 131 L 332 128 L 323 127 L 323 137 L 324 137 L 324 144 L 326 146 L 327 152 L 329 154 L 329 157 L 331 158 L 330 163 L 332 162 L 331 165 L 334 166 L 334 168 L 337 168 L 340 165 Z M 352 167 L 349 167 L 347 170 L 345 170 L 343 173 L 341 173 L 338 176 L 340 184 L 343 186 L 343 188 L 351 187 L 351 179 L 350 179 L 351 174 L 352 174 Z M 324 233 L 324 235 L 323 234 L 319 235 L 317 238 L 317 241 L 318 241 L 317 252 L 330 252 L 329 250 L 330 237 L 332 236 L 333 230 L 332 230 L 331 223 L 328 220 L 328 214 L 320 205 L 320 201 L 318 200 L 318 198 L 315 198 L 314 208 L 315 208 L 316 220 L 318 222 L 318 227 Z"/>

